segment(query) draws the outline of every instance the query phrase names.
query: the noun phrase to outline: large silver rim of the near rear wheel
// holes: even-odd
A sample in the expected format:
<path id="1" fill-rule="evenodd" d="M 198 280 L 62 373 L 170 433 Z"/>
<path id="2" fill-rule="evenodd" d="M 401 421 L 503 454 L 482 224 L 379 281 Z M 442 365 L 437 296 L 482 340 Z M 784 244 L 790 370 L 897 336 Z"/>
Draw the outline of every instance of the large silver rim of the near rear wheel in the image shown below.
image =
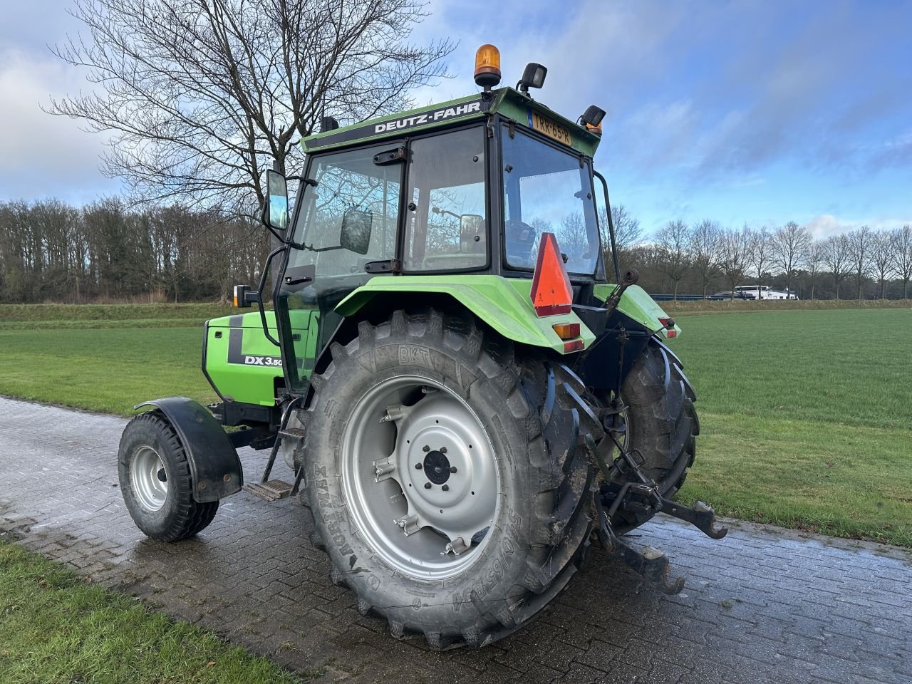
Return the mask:
<path id="1" fill-rule="evenodd" d="M 387 565 L 437 580 L 481 557 L 500 510 L 500 475 L 464 399 L 429 378 L 383 380 L 352 409 L 341 457 L 353 522 Z"/>

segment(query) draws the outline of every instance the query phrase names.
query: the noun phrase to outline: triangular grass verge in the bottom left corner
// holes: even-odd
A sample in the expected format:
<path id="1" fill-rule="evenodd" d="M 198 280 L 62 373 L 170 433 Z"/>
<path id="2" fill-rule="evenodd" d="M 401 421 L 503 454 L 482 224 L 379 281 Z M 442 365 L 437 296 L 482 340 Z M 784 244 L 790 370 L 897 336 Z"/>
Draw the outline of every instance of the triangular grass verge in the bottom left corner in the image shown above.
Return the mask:
<path id="1" fill-rule="evenodd" d="M 267 658 L 0 541 L 5 684 L 292 684 Z"/>

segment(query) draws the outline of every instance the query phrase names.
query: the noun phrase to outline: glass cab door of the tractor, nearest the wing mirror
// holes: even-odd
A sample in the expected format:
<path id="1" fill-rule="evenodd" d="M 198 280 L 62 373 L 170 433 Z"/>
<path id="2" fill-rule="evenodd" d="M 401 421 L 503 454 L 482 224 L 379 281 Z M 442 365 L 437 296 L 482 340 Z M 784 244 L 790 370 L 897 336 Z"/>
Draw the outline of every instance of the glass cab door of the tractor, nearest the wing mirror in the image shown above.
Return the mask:
<path id="1" fill-rule="evenodd" d="M 295 246 L 275 287 L 285 382 L 293 393 L 306 390 L 316 358 L 342 321 L 337 304 L 383 273 L 374 264 L 392 264 L 403 161 L 398 141 L 308 160 L 290 235 Z"/>

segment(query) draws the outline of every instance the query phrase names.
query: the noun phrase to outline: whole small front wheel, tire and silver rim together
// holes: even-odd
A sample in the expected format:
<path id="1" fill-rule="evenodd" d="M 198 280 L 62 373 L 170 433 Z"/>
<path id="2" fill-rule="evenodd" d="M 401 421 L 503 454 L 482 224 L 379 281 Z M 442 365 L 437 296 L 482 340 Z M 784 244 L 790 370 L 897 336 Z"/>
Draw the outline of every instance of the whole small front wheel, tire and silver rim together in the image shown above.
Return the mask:
<path id="1" fill-rule="evenodd" d="M 219 503 L 193 499 L 190 463 L 181 440 L 158 411 L 127 423 L 118 452 L 120 492 L 136 526 L 162 542 L 202 532 Z"/>

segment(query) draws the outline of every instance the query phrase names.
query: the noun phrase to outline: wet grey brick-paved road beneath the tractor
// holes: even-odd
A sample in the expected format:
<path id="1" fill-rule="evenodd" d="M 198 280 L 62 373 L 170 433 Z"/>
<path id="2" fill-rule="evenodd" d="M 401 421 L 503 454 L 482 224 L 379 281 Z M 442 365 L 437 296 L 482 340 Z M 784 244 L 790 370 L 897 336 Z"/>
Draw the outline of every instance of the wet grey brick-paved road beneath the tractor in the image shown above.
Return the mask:
<path id="1" fill-rule="evenodd" d="M 746 523 L 720 542 L 642 529 L 679 596 L 596 553 L 530 627 L 432 653 L 358 615 L 294 501 L 241 492 L 196 539 L 143 538 L 117 487 L 124 423 L 0 398 L 0 534 L 320 681 L 912 682 L 912 554 Z"/>

